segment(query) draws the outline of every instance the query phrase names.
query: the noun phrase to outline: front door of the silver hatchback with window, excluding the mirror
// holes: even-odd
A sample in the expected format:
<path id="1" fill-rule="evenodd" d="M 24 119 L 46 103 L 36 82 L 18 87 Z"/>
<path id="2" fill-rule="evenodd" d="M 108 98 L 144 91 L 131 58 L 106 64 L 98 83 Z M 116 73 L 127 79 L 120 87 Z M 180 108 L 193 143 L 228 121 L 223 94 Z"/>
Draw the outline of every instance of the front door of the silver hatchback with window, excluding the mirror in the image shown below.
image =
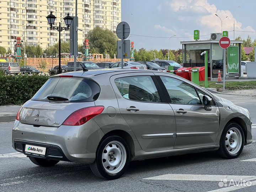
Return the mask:
<path id="1" fill-rule="evenodd" d="M 159 73 L 158 73 L 159 74 Z M 176 119 L 174 149 L 214 145 L 219 131 L 219 107 L 212 103 L 212 110 L 202 105 L 203 91 L 174 77 L 158 77 L 170 97 L 170 106 Z"/>

